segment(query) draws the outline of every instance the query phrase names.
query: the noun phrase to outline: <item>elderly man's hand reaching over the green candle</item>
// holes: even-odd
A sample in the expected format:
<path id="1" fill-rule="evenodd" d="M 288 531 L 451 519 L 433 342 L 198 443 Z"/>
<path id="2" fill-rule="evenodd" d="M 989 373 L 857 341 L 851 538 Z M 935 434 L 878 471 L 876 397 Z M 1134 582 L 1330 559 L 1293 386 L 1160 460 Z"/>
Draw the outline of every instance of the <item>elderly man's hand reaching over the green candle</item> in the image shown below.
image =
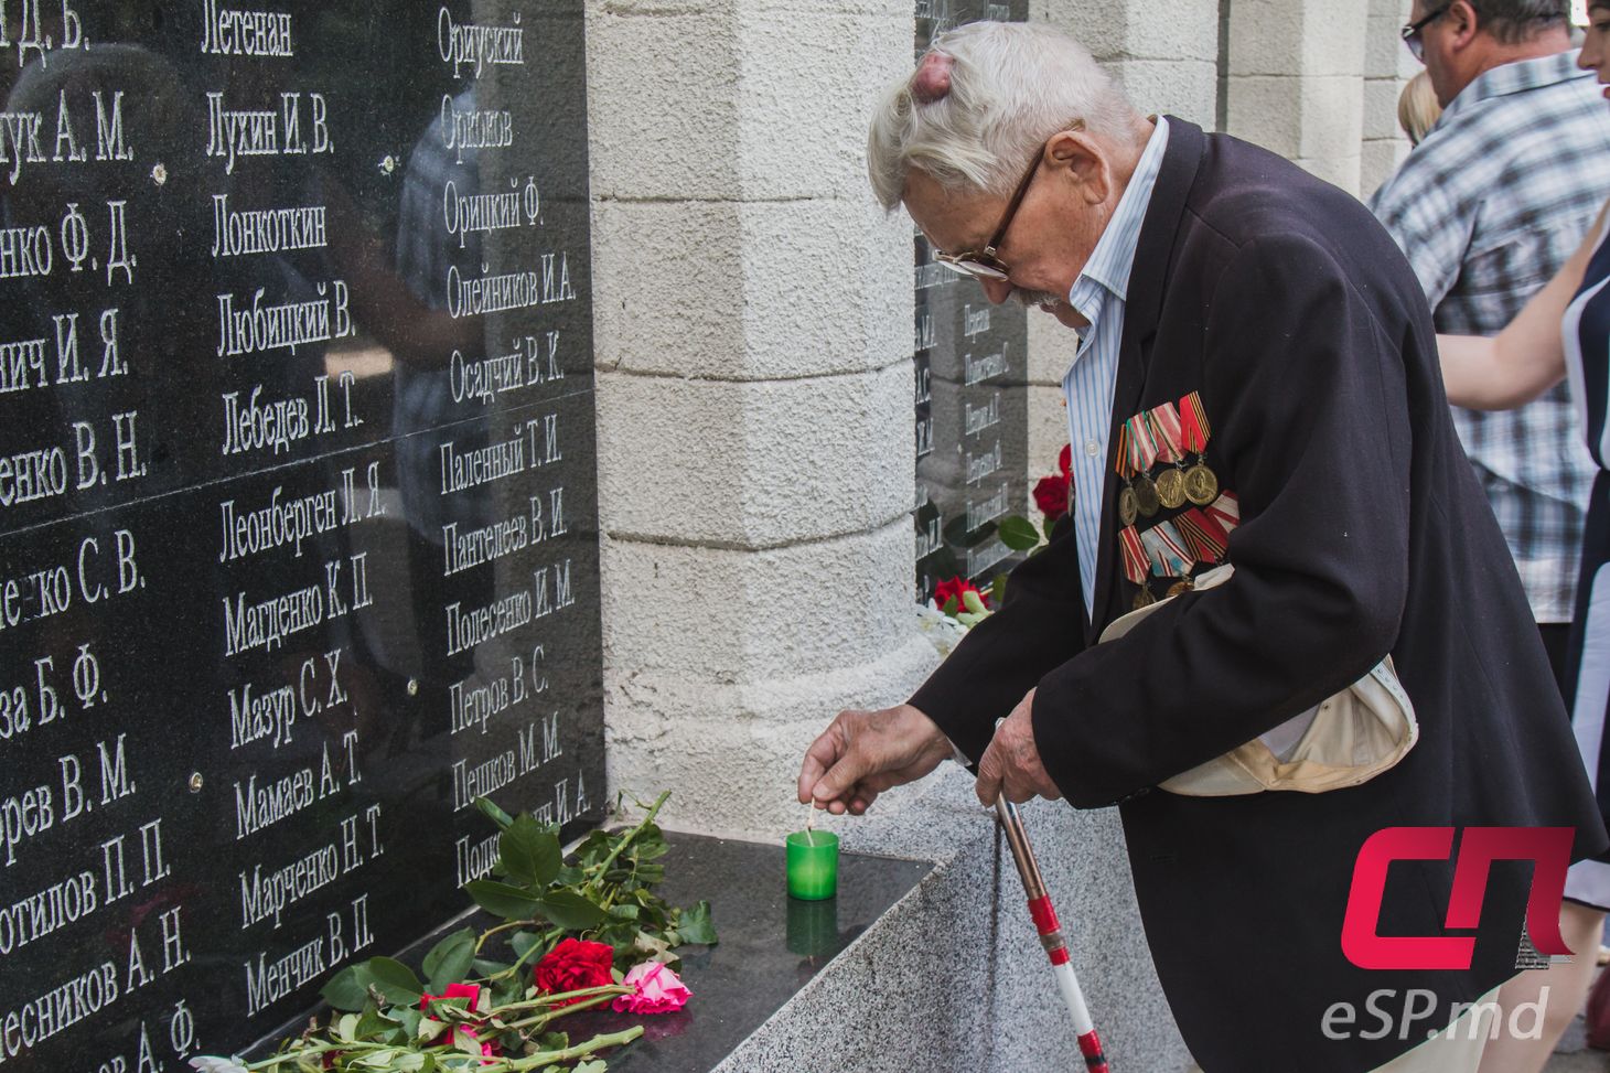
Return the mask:
<path id="1" fill-rule="evenodd" d="M 861 815 L 877 794 L 923 778 L 948 756 L 950 740 L 910 704 L 839 712 L 805 751 L 800 801 L 832 815 Z"/>

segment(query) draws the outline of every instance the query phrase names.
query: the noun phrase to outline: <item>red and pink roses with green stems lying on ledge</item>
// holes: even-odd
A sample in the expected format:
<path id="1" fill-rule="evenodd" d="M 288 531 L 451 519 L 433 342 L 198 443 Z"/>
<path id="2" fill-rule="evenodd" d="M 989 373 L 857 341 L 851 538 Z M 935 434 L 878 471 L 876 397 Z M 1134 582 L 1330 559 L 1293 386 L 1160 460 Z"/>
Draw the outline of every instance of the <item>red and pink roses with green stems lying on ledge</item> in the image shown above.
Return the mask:
<path id="1" fill-rule="evenodd" d="M 446 936 L 419 972 L 391 957 L 349 965 L 324 986 L 333 1012 L 259 1062 L 201 1057 L 203 1073 L 604 1073 L 599 1057 L 642 1034 L 642 1025 L 572 1042 L 560 1018 L 609 1005 L 670 1013 L 691 997 L 676 949 L 715 944 L 710 904 L 668 905 L 654 886 L 668 846 L 654 817 L 670 794 L 621 831 L 596 830 L 570 860 L 557 825 L 510 817 L 485 798 L 501 830 L 497 878 L 465 893 L 496 923 Z M 618 802 L 617 802 L 618 810 Z"/>

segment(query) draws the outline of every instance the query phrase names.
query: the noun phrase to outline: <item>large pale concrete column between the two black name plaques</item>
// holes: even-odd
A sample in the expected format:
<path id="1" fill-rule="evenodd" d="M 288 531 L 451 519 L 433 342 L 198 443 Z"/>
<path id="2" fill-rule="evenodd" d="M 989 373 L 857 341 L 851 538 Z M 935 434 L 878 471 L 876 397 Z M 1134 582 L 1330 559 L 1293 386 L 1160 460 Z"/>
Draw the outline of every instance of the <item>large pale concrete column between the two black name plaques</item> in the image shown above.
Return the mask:
<path id="1" fill-rule="evenodd" d="M 787 830 L 811 736 L 935 661 L 911 232 L 863 171 L 911 35 L 910 0 L 588 6 L 609 773 L 683 825 Z"/>

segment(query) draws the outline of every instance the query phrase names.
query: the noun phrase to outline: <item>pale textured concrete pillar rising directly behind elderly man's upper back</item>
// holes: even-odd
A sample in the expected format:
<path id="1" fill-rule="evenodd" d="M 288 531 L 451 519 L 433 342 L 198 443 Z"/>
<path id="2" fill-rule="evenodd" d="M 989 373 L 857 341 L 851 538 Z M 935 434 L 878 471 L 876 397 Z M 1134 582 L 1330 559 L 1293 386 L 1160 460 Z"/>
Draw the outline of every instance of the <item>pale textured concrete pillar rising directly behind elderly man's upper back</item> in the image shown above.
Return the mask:
<path id="1" fill-rule="evenodd" d="M 1230 134 L 1359 192 L 1372 0 L 1232 0 Z"/>

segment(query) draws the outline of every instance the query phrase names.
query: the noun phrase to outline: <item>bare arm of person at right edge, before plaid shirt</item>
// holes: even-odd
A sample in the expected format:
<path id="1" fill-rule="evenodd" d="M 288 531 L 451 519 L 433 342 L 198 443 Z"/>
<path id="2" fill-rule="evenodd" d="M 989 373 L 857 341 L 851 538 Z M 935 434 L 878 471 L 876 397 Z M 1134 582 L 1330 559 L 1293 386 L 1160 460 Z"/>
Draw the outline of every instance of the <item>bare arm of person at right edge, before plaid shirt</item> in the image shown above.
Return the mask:
<path id="1" fill-rule="evenodd" d="M 1491 338 L 1436 337 L 1449 403 L 1470 409 L 1509 409 L 1530 403 L 1565 377 L 1560 317 L 1583 285 L 1604 221 L 1605 209 L 1600 209 L 1576 253 L 1502 332 Z"/>

